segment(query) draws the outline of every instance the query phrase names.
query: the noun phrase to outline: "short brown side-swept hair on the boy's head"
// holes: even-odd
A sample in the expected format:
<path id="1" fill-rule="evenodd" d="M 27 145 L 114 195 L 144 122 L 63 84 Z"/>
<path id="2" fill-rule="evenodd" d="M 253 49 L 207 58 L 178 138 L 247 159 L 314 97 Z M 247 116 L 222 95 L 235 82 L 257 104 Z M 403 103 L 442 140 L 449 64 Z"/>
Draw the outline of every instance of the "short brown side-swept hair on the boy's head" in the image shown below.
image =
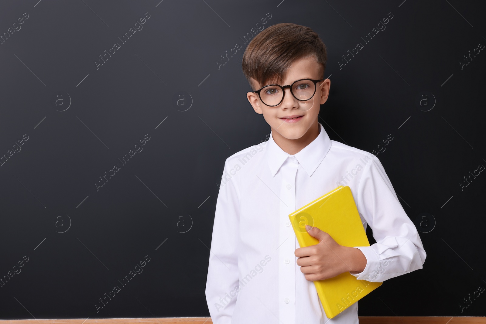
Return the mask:
<path id="1" fill-rule="evenodd" d="M 297 59 L 313 55 L 324 77 L 327 61 L 326 45 L 311 28 L 283 22 L 272 25 L 256 35 L 246 47 L 242 58 L 243 74 L 260 85 L 280 83 L 287 69 Z"/>

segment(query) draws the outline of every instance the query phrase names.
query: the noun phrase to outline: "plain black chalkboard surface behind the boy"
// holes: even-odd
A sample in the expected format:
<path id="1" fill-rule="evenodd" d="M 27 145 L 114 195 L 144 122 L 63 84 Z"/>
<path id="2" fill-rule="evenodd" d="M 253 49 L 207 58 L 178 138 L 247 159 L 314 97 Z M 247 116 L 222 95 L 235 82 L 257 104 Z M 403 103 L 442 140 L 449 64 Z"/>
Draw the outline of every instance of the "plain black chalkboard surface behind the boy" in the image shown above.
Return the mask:
<path id="1" fill-rule="evenodd" d="M 242 55 L 279 22 L 326 43 L 319 122 L 377 155 L 427 252 L 359 315 L 485 316 L 484 10 L 2 1 L 1 319 L 208 316 L 225 159 L 270 133 L 246 99 Z"/>

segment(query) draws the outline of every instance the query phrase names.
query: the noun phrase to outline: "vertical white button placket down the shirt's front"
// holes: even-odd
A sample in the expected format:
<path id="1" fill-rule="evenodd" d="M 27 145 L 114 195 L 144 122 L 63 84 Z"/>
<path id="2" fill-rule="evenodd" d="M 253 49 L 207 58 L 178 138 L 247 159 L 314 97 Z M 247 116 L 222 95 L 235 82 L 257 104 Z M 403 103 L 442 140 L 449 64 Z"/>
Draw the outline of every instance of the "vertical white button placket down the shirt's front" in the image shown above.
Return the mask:
<path id="1" fill-rule="evenodd" d="M 295 324 L 295 233 L 289 220 L 289 214 L 295 211 L 295 176 L 298 162 L 290 156 L 283 163 L 280 171 L 280 223 L 278 248 L 279 260 L 279 320 L 284 324 Z"/>

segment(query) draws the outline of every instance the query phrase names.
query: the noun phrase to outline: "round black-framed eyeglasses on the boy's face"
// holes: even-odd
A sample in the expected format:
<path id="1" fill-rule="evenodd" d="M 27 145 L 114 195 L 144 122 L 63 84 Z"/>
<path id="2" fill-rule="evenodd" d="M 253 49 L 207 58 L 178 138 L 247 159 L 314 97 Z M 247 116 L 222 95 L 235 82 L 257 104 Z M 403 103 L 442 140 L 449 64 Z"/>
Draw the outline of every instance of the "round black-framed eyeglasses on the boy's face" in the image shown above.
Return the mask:
<path id="1" fill-rule="evenodd" d="M 300 79 L 292 85 L 265 85 L 253 93 L 258 93 L 261 102 L 270 107 L 278 106 L 283 101 L 285 88 L 290 88 L 290 92 L 299 102 L 308 101 L 315 94 L 316 83 L 324 80 Z"/>

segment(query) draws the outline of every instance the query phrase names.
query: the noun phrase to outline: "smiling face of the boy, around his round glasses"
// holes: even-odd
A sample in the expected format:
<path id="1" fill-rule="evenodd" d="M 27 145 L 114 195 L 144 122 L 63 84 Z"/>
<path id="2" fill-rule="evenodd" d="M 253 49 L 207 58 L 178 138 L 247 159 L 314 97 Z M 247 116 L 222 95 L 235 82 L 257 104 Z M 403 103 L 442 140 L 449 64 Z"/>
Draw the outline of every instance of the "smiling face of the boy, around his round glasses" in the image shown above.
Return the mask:
<path id="1" fill-rule="evenodd" d="M 320 80 L 319 64 L 314 56 L 295 60 L 289 67 L 284 78 L 283 85 L 292 85 L 295 80 L 312 79 Z M 251 80 L 257 89 L 260 85 L 256 80 Z M 312 83 L 312 82 L 311 82 Z M 263 114 L 263 118 L 270 125 L 274 136 L 282 136 L 286 139 L 299 139 L 302 136 L 310 136 L 317 128 L 317 117 L 320 105 L 326 102 L 329 95 L 330 80 L 318 82 L 314 96 L 308 101 L 298 101 L 290 92 L 290 88 L 285 88 L 285 95 L 282 102 L 277 106 L 270 107 L 261 102 L 257 93 L 248 92 L 246 97 L 258 114 Z M 262 90 L 263 91 L 265 89 Z M 281 91 L 281 89 L 280 89 Z M 297 97 L 298 95 L 295 94 Z M 302 116 L 297 121 L 290 121 L 289 116 Z M 276 134 L 278 133 L 278 134 Z M 307 137 L 305 136 L 305 137 Z M 283 140 L 285 140 L 282 138 Z"/>

